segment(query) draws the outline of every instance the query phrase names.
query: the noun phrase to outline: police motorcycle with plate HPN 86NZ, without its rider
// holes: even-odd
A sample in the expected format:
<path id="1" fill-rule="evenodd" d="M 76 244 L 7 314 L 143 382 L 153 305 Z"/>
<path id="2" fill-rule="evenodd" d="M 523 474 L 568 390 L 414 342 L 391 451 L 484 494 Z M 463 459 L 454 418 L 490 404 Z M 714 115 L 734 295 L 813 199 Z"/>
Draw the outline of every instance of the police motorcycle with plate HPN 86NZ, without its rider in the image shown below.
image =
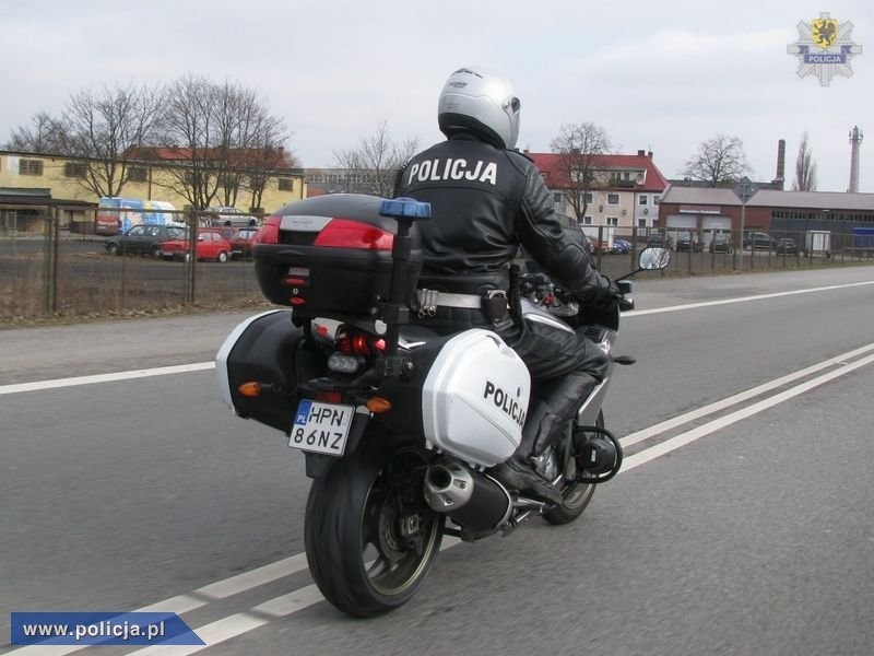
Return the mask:
<path id="1" fill-rule="evenodd" d="M 422 268 L 414 224 L 429 210 L 412 199 L 331 195 L 268 218 L 256 273 L 284 307 L 244 320 L 215 359 L 234 412 L 282 431 L 304 453 L 309 569 L 322 595 L 354 617 L 406 602 L 445 535 L 473 541 L 531 516 L 576 519 L 622 462 L 601 412 L 609 372 L 566 438 L 536 462 L 551 494 L 510 489 L 491 473 L 519 445 L 535 390 L 495 332 L 438 337 L 411 321 Z M 638 270 L 669 258 L 648 248 Z M 520 276 L 513 303 L 610 352 L 618 309 L 580 315 L 554 288 L 544 298 L 550 284 Z"/>

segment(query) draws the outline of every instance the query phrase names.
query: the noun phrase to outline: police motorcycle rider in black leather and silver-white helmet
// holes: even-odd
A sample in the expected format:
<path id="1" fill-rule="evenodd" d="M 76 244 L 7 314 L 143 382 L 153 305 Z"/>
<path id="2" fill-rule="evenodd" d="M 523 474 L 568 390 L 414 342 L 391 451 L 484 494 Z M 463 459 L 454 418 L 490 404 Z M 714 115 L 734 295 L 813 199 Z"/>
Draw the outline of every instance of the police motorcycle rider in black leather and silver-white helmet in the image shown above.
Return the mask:
<path id="1" fill-rule="evenodd" d="M 509 265 L 522 246 L 580 303 L 612 304 L 618 286 L 592 266 L 582 239 L 568 239 L 534 163 L 517 150 L 519 98 L 510 83 L 460 68 L 440 93 L 437 121 L 447 140 L 414 155 L 399 172 L 398 196 L 430 202 L 418 223 L 424 267 L 420 321 L 448 335 L 491 327 L 529 368 L 535 397 L 522 441 L 495 473 L 520 490 L 555 499 L 532 468 L 601 382 L 604 353 L 574 332 L 521 320 L 507 311 Z"/>

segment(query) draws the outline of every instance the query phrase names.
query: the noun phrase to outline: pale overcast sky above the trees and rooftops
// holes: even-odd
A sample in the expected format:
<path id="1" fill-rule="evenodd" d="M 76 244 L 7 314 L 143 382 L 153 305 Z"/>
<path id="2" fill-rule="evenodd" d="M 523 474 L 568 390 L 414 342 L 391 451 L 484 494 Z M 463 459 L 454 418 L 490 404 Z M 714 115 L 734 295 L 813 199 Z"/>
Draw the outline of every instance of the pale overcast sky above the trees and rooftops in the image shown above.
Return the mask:
<path id="1" fill-rule="evenodd" d="M 823 12 L 862 47 L 828 86 L 787 52 Z M 331 166 L 381 122 L 397 143 L 440 141 L 444 82 L 483 66 L 521 99 L 520 149 L 550 152 L 560 126 L 590 121 L 671 178 L 722 133 L 743 141 L 752 179 L 770 180 L 783 139 L 790 188 L 806 131 L 817 188 L 846 191 L 859 126 L 872 130 L 859 190 L 874 192 L 867 1 L 0 0 L 0 144 L 70 94 L 193 73 L 255 90 L 302 165 Z"/>

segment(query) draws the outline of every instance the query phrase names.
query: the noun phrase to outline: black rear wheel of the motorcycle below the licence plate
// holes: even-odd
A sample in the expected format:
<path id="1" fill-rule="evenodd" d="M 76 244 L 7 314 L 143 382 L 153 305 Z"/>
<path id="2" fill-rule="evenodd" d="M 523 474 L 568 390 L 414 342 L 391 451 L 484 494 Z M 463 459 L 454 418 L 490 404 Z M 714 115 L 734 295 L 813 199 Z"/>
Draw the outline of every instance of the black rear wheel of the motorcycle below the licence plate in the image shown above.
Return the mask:
<path id="1" fill-rule="evenodd" d="M 321 594 L 343 612 L 366 618 L 393 610 L 425 581 L 445 522 L 423 496 L 426 464 L 417 446 L 370 448 L 312 482 L 307 561 Z"/>

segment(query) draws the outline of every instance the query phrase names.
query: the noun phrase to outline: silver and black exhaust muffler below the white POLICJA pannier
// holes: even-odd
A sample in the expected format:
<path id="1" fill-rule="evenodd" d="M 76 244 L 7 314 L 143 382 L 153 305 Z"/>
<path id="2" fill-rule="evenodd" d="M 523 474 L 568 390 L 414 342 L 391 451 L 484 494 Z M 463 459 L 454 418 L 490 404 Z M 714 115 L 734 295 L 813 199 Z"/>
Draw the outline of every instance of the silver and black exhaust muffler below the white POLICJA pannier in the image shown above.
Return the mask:
<path id="1" fill-rule="evenodd" d="M 425 472 L 425 501 L 438 513 L 484 537 L 504 526 L 512 514 L 512 497 L 489 476 L 451 458 L 441 458 Z"/>

